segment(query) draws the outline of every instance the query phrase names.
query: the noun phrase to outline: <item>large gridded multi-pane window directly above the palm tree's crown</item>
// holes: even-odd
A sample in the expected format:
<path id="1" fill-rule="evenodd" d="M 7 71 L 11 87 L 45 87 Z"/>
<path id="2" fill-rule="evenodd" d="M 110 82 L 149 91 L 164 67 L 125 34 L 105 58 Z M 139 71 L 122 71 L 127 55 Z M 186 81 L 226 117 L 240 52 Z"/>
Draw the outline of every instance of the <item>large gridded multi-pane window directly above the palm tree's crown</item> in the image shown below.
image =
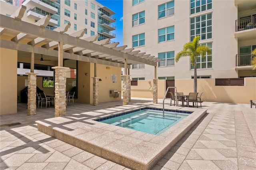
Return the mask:
<path id="1" fill-rule="evenodd" d="M 212 13 L 190 18 L 190 41 L 195 36 L 200 36 L 200 40 L 212 38 Z"/>

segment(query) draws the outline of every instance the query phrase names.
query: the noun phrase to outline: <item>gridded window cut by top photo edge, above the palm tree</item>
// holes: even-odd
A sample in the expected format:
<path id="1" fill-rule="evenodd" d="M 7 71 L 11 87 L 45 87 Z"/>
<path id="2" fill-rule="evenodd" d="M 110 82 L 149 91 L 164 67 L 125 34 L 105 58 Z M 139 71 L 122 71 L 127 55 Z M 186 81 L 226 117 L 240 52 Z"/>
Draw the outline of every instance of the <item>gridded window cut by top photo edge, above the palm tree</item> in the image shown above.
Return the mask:
<path id="1" fill-rule="evenodd" d="M 190 14 L 212 9 L 212 0 L 190 0 Z"/>

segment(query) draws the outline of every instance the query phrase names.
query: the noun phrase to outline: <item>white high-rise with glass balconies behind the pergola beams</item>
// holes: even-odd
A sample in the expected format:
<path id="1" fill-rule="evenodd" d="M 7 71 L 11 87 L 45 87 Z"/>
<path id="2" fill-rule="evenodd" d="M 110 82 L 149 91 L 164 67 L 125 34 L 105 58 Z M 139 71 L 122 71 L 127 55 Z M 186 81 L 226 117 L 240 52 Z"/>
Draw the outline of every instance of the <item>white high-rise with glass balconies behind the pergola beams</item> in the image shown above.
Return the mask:
<path id="1" fill-rule="evenodd" d="M 85 29 L 84 38 L 99 34 L 98 40 L 115 38 L 116 22 L 115 12 L 98 3 L 96 0 L 4 0 L 14 7 L 1 7 L 1 14 L 11 16 L 21 5 L 26 6 L 23 21 L 35 23 L 46 15 L 51 19 L 46 26 L 51 30 L 69 22 L 71 24 L 65 34 L 72 34 Z M 110 41 L 111 43 L 111 41 Z"/>

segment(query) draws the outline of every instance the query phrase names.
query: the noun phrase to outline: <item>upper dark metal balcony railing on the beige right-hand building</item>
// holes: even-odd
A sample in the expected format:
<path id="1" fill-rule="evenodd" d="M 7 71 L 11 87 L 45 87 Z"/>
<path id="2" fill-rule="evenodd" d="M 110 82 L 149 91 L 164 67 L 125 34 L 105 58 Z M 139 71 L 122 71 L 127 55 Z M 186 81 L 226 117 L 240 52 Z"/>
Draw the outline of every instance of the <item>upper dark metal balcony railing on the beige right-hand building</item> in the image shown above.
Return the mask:
<path id="1" fill-rule="evenodd" d="M 256 28 L 256 16 L 236 20 L 236 31 Z"/>

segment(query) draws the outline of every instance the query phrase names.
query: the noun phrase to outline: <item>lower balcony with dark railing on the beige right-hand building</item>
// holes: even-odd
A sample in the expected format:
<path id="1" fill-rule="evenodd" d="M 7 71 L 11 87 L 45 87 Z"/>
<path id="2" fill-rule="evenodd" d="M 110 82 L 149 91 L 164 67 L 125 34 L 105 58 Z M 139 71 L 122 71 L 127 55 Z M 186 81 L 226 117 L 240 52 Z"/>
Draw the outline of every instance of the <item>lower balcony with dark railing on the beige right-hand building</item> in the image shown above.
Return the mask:
<path id="1" fill-rule="evenodd" d="M 251 70 L 254 57 L 251 53 L 236 54 L 236 70 Z"/>

